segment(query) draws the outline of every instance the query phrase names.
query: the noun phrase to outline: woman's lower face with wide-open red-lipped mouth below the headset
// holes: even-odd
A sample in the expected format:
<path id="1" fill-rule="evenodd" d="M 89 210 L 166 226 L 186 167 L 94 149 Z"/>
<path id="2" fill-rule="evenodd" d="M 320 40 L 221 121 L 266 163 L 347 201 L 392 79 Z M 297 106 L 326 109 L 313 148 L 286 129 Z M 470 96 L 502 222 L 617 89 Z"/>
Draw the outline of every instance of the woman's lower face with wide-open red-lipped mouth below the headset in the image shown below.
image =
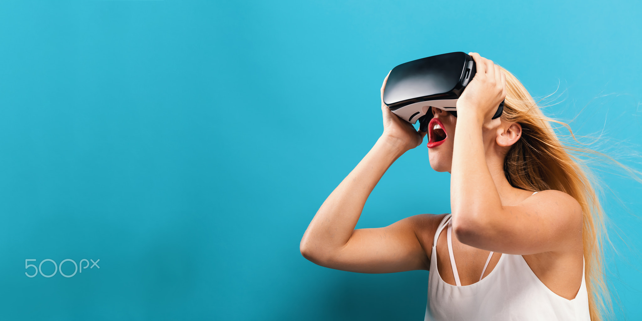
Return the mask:
<path id="1" fill-rule="evenodd" d="M 433 118 L 428 123 L 428 157 L 435 171 L 450 172 L 453 164 L 453 138 L 457 117 L 446 110 L 433 108 Z"/>

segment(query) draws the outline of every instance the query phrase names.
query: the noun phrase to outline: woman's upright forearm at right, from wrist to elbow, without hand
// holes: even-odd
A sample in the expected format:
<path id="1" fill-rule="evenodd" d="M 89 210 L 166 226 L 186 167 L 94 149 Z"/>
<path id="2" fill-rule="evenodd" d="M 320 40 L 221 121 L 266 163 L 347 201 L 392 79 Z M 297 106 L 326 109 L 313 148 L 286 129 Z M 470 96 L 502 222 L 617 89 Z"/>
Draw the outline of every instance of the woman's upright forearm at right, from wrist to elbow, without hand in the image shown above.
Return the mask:
<path id="1" fill-rule="evenodd" d="M 501 200 L 486 161 L 482 124 L 476 115 L 457 119 L 451 168 L 453 225 L 466 230 L 501 210 Z M 461 240 L 460 240 L 461 241 Z"/>

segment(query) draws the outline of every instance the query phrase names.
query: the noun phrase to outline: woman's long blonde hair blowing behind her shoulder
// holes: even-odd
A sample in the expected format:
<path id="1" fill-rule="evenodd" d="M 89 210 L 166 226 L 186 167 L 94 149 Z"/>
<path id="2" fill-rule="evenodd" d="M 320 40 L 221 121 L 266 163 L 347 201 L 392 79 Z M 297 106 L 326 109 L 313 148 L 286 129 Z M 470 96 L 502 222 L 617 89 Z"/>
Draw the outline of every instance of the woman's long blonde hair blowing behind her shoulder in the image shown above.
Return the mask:
<path id="1" fill-rule="evenodd" d="M 522 126 L 521 138 L 504 160 L 506 178 L 514 187 L 527 191 L 555 189 L 580 203 L 589 311 L 591 320 L 603 320 L 603 315 L 612 311 L 603 267 L 603 242 L 608 240 L 605 215 L 595 191 L 598 180 L 580 155 L 600 155 L 625 166 L 603 153 L 581 147 L 568 124 L 544 116 L 521 82 L 506 69 L 502 70 L 506 74 L 507 94 L 501 119 Z M 562 143 L 551 123 L 568 128 L 570 137 L 579 144 Z"/>

